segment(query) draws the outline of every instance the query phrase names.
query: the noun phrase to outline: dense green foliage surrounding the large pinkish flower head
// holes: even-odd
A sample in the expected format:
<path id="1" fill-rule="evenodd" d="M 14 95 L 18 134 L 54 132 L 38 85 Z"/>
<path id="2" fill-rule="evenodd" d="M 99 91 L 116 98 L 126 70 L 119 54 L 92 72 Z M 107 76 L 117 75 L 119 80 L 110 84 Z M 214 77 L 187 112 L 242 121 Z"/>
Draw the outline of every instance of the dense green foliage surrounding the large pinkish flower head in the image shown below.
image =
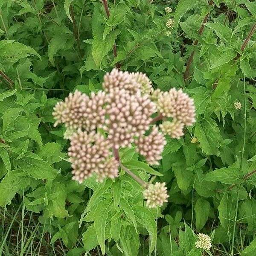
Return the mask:
<path id="1" fill-rule="evenodd" d="M 204 255 L 256 255 L 255 1 L 108 8 L 109 18 L 99 0 L 0 0 L 0 255 L 200 256 L 199 232 L 212 237 Z M 195 125 L 166 137 L 160 166 L 120 152 L 143 180 L 161 174 L 169 202 L 157 210 L 127 174 L 71 180 L 64 125 L 53 127 L 56 102 L 100 90 L 116 64 L 195 100 Z"/>

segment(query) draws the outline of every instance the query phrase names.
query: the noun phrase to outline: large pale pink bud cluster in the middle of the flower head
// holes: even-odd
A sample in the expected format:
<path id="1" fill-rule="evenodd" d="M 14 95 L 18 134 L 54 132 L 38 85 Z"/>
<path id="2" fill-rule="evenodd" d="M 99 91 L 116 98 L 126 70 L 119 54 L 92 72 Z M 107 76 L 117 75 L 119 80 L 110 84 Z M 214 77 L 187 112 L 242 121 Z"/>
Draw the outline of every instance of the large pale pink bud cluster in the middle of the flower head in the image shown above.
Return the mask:
<path id="1" fill-rule="evenodd" d="M 148 130 L 151 115 L 156 106 L 148 96 L 130 95 L 127 90 L 115 88 L 109 93 L 110 104 L 106 106 L 109 118 L 105 131 L 115 148 L 130 147 L 134 137 L 142 136 Z"/>

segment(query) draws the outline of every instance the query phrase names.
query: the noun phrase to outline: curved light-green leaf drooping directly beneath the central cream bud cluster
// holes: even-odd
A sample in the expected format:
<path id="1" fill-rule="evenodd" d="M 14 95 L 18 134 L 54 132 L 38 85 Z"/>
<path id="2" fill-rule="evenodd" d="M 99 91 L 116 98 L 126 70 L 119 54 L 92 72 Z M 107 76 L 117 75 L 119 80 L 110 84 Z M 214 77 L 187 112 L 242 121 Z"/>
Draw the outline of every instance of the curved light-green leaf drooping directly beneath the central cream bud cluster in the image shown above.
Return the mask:
<path id="1" fill-rule="evenodd" d="M 157 240 L 157 225 L 154 220 L 154 215 L 148 208 L 139 205 L 134 205 L 132 209 L 134 210 L 134 215 L 137 217 L 137 222 L 142 224 L 149 233 L 149 251 L 152 252 Z"/>

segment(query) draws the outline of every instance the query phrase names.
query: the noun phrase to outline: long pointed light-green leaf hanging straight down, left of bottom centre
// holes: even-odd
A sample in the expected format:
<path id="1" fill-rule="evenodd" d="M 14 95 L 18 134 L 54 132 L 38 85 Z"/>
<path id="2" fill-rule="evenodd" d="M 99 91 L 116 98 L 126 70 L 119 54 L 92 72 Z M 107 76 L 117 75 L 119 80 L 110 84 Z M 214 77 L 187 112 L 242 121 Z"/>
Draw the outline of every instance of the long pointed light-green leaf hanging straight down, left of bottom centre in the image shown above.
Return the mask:
<path id="1" fill-rule="evenodd" d="M 111 202 L 105 204 L 98 204 L 97 211 L 93 215 L 94 227 L 99 242 L 99 246 L 102 250 L 102 254 L 105 254 L 105 229 L 107 225 L 108 212 L 110 211 Z"/>

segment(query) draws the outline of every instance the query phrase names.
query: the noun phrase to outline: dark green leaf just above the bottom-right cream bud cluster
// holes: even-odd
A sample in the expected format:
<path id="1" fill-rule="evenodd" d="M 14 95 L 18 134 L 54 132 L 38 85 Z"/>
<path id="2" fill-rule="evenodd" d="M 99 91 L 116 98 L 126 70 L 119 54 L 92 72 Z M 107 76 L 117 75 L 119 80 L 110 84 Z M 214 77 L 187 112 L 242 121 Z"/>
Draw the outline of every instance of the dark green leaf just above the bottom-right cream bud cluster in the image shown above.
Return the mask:
<path id="1" fill-rule="evenodd" d="M 200 231 L 208 219 L 210 213 L 210 203 L 202 198 L 198 198 L 195 204 L 195 227 Z"/>

